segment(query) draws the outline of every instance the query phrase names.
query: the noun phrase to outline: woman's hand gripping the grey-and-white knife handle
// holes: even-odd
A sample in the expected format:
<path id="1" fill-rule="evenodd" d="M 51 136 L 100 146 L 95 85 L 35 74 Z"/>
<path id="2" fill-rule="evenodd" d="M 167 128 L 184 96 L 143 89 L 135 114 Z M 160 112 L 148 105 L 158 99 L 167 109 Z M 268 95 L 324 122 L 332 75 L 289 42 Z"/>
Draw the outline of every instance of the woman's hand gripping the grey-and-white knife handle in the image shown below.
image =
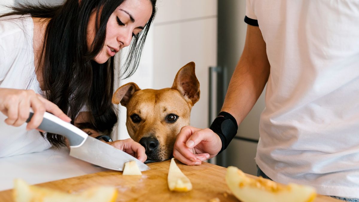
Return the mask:
<path id="1" fill-rule="evenodd" d="M 41 124 L 45 111 L 66 122 L 71 121 L 57 105 L 33 90 L 0 88 L 0 111 L 8 116 L 5 119 L 6 124 L 15 127 L 22 125 L 29 118 L 30 108 L 33 109 L 34 115 L 26 126 L 27 130 L 35 129 Z"/>

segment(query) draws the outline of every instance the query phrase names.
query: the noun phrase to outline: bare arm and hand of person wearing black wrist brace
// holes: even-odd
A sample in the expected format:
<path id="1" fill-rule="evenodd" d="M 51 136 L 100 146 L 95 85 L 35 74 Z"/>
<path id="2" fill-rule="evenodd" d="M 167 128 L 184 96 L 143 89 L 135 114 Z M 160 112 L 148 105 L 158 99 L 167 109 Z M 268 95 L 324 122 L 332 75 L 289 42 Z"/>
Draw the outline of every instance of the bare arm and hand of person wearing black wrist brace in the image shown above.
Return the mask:
<path id="1" fill-rule="evenodd" d="M 258 27 L 247 26 L 246 43 L 234 70 L 222 111 L 232 114 L 240 124 L 261 95 L 270 65 L 266 43 Z M 173 156 L 187 165 L 200 165 L 222 149 L 222 140 L 211 129 L 183 127 L 174 143 Z"/>

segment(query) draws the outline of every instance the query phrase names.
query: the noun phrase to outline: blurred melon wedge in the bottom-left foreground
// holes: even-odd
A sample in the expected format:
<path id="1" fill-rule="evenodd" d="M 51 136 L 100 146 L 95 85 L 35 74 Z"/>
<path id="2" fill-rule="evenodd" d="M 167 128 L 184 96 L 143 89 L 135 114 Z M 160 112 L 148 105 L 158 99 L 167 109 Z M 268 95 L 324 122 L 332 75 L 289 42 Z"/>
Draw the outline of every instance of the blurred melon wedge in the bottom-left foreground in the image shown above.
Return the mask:
<path id="1" fill-rule="evenodd" d="M 115 187 L 93 187 L 81 193 L 70 194 L 29 185 L 21 179 L 15 179 L 13 189 L 15 202 L 114 202 L 116 197 L 117 189 Z"/>

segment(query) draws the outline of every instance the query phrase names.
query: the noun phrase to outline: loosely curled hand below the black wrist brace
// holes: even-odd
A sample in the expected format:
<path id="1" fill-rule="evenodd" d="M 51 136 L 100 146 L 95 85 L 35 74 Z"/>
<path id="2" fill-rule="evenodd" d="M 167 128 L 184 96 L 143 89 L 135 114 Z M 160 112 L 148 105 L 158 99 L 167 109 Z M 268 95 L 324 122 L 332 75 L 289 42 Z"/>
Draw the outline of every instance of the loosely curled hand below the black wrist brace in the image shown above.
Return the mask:
<path id="1" fill-rule="evenodd" d="M 181 128 L 173 148 L 173 157 L 187 165 L 200 165 L 218 154 L 222 141 L 213 130 L 191 126 Z"/>

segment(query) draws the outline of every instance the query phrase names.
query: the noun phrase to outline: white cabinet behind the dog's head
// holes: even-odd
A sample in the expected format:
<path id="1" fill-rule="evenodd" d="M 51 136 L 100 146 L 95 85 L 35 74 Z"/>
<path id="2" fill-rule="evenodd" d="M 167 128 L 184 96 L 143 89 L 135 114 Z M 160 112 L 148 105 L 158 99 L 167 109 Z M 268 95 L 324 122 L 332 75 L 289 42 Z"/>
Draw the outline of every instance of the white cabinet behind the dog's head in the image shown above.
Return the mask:
<path id="1" fill-rule="evenodd" d="M 157 15 L 145 43 L 140 66 L 134 76 L 120 84 L 140 82 L 139 87 L 171 87 L 177 71 L 196 63 L 200 100 L 191 112 L 191 125 L 208 127 L 208 68 L 217 64 L 217 1 L 159 0 Z M 145 73 L 143 73 L 145 72 Z M 126 109 L 121 114 L 118 138 L 128 138 Z"/>

